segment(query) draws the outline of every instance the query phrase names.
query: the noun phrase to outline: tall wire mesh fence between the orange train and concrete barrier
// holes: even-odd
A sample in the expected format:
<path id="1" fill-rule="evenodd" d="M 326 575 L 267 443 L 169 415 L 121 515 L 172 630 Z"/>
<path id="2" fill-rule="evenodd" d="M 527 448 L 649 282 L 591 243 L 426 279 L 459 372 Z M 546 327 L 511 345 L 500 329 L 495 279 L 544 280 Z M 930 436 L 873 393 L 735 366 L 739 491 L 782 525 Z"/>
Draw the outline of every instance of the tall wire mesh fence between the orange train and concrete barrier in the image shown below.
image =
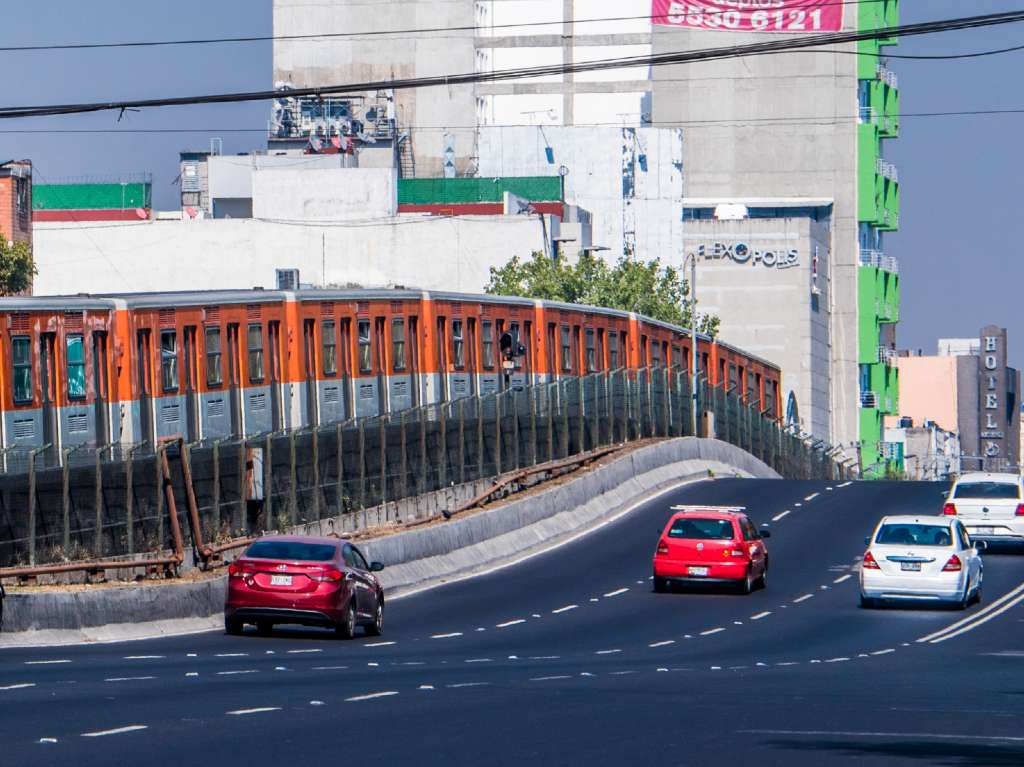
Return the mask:
<path id="1" fill-rule="evenodd" d="M 705 382 L 694 424 L 689 384 L 684 372 L 621 370 L 246 439 L 8 451 L 0 566 L 173 548 L 171 501 L 181 530 L 194 501 L 216 545 L 652 437 L 715 436 L 787 478 L 850 474 L 827 445 Z"/>

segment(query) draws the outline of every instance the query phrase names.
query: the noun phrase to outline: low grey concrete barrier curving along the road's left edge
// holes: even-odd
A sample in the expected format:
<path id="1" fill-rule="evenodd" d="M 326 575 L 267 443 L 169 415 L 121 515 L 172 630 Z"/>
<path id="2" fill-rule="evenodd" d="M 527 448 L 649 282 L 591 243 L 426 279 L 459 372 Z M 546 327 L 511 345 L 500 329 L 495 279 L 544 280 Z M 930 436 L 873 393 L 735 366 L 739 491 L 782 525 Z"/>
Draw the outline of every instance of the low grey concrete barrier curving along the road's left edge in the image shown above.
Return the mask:
<path id="1" fill-rule="evenodd" d="M 753 456 L 715 439 L 685 437 L 632 451 L 549 489 L 449 522 L 359 546 L 387 565 L 389 598 L 540 553 L 687 480 L 714 475 L 777 478 Z M 340 528 L 340 526 L 339 526 Z M 60 644 L 214 629 L 223 576 L 198 583 L 76 591 L 8 591 L 0 646 Z"/>

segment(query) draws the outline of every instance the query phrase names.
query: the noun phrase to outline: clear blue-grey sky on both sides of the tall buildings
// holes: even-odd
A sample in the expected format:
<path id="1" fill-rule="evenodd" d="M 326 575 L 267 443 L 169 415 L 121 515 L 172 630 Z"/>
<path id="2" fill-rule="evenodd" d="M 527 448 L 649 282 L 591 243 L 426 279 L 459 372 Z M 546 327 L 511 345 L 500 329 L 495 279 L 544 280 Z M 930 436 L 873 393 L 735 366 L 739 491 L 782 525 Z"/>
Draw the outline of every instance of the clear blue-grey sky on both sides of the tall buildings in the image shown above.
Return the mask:
<path id="1" fill-rule="evenodd" d="M 5 3 L 0 46 L 268 35 L 271 0 L 50 0 Z M 902 23 L 1017 10 L 1024 0 L 903 0 Z M 1024 44 L 1024 24 L 912 38 L 892 52 L 947 54 Z M 890 61 L 904 115 L 1024 110 L 1024 52 L 952 61 Z M 0 52 L 0 105 L 144 98 L 272 87 L 269 42 L 113 50 Z M 260 147 L 262 102 L 150 110 L 0 123 L 2 160 L 29 158 L 37 182 L 152 172 L 157 208 L 177 207 L 178 152 Z M 195 133 L 10 133 L 118 128 Z M 227 132 L 249 129 L 250 132 Z M 887 255 L 900 261 L 901 348 L 935 353 L 936 340 L 1006 327 L 1010 361 L 1024 365 L 1021 141 L 1024 114 L 904 117 L 883 154 L 899 169 L 900 230 Z"/>

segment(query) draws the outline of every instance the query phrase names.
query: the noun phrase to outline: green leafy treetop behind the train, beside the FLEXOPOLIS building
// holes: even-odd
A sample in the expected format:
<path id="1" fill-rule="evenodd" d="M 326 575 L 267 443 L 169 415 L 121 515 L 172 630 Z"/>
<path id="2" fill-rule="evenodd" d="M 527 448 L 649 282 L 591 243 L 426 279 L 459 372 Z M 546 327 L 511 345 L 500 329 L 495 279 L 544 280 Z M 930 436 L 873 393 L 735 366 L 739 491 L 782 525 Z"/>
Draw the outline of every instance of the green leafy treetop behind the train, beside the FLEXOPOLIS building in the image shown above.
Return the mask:
<path id="1" fill-rule="evenodd" d="M 515 256 L 502 267 L 490 267 L 486 292 L 549 301 L 605 306 L 646 314 L 653 319 L 690 327 L 690 286 L 682 273 L 657 259 L 621 258 L 611 266 L 592 253 L 582 253 L 574 264 L 565 258 L 535 251 L 528 261 Z M 697 315 L 697 331 L 715 337 L 719 318 Z"/>

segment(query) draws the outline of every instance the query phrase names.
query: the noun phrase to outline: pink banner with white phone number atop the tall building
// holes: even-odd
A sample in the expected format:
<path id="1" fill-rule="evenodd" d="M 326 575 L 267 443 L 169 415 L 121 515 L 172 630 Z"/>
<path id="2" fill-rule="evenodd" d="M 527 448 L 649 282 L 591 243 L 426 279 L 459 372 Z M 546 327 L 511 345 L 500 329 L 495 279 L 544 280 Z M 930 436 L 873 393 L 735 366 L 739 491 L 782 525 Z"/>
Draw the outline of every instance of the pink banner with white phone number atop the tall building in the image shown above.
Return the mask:
<path id="1" fill-rule="evenodd" d="M 652 0 L 651 24 L 733 32 L 839 32 L 838 0 Z"/>

